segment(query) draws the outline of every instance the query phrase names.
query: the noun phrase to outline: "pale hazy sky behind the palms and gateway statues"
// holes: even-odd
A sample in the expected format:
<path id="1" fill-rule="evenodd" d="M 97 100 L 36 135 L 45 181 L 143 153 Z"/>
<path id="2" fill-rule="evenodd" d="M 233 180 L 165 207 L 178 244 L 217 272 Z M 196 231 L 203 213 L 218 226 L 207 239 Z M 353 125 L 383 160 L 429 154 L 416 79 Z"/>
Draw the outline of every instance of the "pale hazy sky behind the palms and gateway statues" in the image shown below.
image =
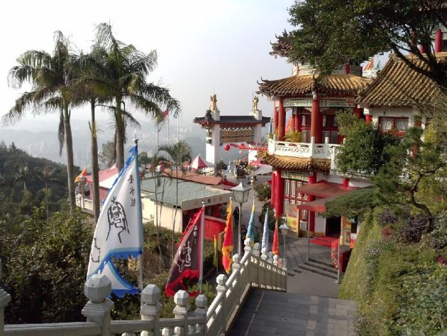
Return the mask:
<path id="1" fill-rule="evenodd" d="M 222 115 L 247 114 L 252 94 L 258 90 L 257 80 L 291 74 L 292 65 L 268 53 L 275 33 L 291 28 L 287 8 L 293 2 L 1 1 L 0 114 L 8 112 L 16 97 L 28 90 L 8 86 L 7 74 L 18 55 L 31 49 L 51 52 L 57 30 L 70 36 L 79 50 L 88 51 L 94 26 L 101 22 L 111 23 L 118 40 L 146 53 L 157 50 L 158 68 L 148 80 L 160 81 L 180 100 L 182 123 L 190 124 L 194 116 L 204 115 L 213 93 Z M 270 116 L 272 102 L 260 97 L 259 107 Z M 72 117 L 81 119 L 88 111 L 88 107 L 75 110 Z"/>

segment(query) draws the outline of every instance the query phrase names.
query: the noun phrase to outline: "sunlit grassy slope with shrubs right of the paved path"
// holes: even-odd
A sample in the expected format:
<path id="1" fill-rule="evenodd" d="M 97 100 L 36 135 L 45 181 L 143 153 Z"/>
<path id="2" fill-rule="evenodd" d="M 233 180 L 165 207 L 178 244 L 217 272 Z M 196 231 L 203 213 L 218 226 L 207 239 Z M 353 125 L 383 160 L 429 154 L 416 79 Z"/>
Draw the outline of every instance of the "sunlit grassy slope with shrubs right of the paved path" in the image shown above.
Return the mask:
<path id="1" fill-rule="evenodd" d="M 402 235 L 419 219 L 409 207 L 367 212 L 339 293 L 359 303 L 358 335 L 442 335 L 447 266 L 439 260 L 447 250 L 438 238 L 447 237 L 445 218 L 436 217 L 436 233 L 413 239 Z"/>

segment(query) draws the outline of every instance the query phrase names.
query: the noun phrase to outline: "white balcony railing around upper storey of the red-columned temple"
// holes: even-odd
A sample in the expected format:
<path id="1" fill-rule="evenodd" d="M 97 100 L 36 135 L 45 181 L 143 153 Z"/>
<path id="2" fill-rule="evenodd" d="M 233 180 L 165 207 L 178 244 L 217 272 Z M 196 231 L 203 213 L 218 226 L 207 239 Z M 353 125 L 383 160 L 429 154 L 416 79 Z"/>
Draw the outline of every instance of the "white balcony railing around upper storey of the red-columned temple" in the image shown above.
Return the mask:
<path id="1" fill-rule="evenodd" d="M 340 145 L 329 143 L 329 138 L 326 138 L 325 143 L 315 143 L 313 136 L 310 143 L 275 141 L 269 139 L 268 153 L 278 156 L 292 156 L 295 158 L 332 159 L 338 146 Z"/>

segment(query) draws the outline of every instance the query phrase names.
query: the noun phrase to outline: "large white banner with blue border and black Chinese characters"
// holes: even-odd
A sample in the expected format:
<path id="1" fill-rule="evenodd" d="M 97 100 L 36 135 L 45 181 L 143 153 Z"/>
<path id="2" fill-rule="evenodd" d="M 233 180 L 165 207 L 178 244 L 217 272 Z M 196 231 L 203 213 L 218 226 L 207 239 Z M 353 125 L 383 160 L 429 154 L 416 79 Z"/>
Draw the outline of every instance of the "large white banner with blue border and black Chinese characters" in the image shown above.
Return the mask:
<path id="1" fill-rule="evenodd" d="M 118 297 L 138 293 L 138 288 L 121 276 L 111 258 L 137 258 L 143 247 L 137 148 L 130 152 L 132 156 L 109 190 L 99 214 L 87 271 L 87 279 L 96 273 L 105 274 L 111 281 L 112 293 Z"/>

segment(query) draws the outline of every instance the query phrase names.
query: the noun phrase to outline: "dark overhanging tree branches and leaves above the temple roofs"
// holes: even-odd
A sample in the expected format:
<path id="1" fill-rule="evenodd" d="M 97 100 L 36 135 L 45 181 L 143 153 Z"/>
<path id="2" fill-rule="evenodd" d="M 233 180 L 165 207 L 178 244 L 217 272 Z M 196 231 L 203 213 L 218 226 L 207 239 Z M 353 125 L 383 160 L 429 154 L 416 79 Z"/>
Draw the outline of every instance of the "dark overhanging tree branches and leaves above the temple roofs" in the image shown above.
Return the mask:
<path id="1" fill-rule="evenodd" d="M 447 26 L 441 11 L 444 0 L 295 1 L 289 9 L 289 22 L 296 27 L 289 60 L 309 61 L 331 72 L 392 50 L 409 67 L 442 85 L 447 63 L 437 62 L 431 45 L 436 28 Z M 408 60 L 408 53 L 416 58 Z"/>

